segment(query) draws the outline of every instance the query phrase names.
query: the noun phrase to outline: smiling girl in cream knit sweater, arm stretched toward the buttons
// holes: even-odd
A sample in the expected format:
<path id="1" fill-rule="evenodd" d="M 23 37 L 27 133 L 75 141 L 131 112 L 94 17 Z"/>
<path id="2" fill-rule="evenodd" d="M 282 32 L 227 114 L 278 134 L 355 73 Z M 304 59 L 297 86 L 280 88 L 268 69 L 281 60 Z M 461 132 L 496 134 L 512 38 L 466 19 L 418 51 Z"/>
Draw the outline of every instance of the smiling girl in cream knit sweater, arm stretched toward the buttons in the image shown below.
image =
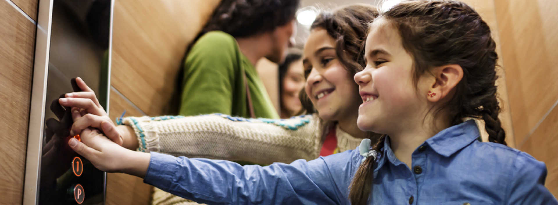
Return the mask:
<path id="1" fill-rule="evenodd" d="M 363 69 L 367 26 L 377 16 L 375 7 L 354 4 L 323 12 L 312 24 L 304 50 L 307 84 L 303 96 L 318 114 L 287 120 L 220 114 L 126 117 L 118 120 L 121 126 L 114 127 L 94 93 L 82 92 L 67 94 L 68 103 L 79 107 L 79 102 L 73 101 L 83 98 L 82 102 L 92 106 L 82 106 L 90 113 L 85 116 L 94 121 L 76 121 L 73 132 L 93 126 L 103 128 L 108 137 L 132 150 L 256 164 L 312 160 L 352 150 L 363 138 L 376 141 L 372 132 L 357 127 L 361 99 L 353 76 Z M 83 80 L 76 81 L 86 86 Z M 153 202 L 167 204 L 182 199 L 155 189 Z"/>

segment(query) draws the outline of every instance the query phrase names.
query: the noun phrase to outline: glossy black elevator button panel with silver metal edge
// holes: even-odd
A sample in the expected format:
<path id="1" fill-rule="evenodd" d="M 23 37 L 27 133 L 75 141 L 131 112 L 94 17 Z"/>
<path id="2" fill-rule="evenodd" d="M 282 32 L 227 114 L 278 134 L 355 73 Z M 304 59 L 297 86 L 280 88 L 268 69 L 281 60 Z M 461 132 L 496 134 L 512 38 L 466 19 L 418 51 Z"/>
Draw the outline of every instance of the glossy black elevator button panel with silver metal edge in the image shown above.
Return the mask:
<path id="1" fill-rule="evenodd" d="M 57 99 L 81 77 L 108 109 L 113 1 L 41 1 L 23 204 L 104 204 L 105 176 L 68 146 L 73 121 Z"/>

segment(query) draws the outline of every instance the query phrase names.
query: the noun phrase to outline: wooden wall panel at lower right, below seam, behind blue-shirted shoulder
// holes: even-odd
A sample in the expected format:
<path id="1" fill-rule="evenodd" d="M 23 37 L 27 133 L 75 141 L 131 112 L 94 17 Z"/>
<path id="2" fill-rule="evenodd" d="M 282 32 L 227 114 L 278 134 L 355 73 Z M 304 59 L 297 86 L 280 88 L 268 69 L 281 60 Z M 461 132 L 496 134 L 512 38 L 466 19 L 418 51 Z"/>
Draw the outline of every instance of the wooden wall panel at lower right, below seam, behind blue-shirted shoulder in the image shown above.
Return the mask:
<path id="1" fill-rule="evenodd" d="M 558 107 L 542 121 L 537 130 L 521 146 L 521 151 L 531 154 L 535 159 L 545 162 L 549 175 L 546 187 L 558 196 Z"/>

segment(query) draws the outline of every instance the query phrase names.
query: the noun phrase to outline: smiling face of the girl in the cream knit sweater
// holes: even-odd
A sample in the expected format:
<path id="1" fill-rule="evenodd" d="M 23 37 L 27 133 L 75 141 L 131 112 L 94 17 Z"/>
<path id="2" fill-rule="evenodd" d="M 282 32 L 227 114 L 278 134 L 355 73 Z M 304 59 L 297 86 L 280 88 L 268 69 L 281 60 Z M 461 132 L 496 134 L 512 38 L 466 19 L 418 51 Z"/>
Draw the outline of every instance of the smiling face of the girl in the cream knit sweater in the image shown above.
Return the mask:
<path id="1" fill-rule="evenodd" d="M 358 115 L 358 85 L 341 65 L 335 40 L 323 28 L 314 28 L 304 46 L 306 94 L 324 120 L 341 121 Z"/>

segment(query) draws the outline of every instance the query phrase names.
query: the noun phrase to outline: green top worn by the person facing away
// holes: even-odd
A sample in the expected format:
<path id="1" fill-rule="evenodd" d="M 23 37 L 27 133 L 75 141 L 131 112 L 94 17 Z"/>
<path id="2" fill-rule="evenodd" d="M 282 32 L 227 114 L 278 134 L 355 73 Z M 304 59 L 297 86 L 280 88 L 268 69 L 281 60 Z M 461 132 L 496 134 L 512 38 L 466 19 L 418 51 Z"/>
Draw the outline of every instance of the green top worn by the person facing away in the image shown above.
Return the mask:
<path id="1" fill-rule="evenodd" d="M 184 65 L 180 115 L 250 117 L 245 71 L 256 117 L 279 118 L 256 68 L 240 53 L 234 37 L 222 31 L 206 33 L 190 50 Z"/>

